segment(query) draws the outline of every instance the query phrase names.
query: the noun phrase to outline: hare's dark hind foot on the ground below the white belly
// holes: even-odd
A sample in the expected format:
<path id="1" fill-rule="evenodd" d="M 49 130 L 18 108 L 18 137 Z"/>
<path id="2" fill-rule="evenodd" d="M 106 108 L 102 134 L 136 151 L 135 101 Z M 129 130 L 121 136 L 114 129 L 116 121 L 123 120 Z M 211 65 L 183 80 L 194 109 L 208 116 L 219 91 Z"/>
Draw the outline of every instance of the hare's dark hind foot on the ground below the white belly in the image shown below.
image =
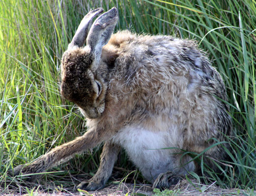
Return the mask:
<path id="1" fill-rule="evenodd" d="M 180 176 L 174 175 L 173 172 L 160 173 L 154 181 L 153 188 L 161 190 L 169 188 L 171 185 L 177 184 L 181 179 Z"/>

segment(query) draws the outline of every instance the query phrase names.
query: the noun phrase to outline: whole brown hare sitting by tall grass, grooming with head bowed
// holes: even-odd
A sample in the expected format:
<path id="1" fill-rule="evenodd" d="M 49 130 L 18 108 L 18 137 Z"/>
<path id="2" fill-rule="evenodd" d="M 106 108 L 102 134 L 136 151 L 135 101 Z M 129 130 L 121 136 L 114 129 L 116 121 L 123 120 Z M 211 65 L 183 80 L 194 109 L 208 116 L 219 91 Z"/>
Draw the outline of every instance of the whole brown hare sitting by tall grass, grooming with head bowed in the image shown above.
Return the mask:
<path id="1" fill-rule="evenodd" d="M 226 159 L 231 119 L 223 80 L 205 53 L 187 39 L 127 30 L 113 34 L 117 9 L 92 23 L 102 12 L 97 8 L 84 17 L 61 62 L 61 95 L 80 108 L 88 131 L 17 166 L 14 175 L 44 172 L 103 142 L 100 167 L 81 189 L 104 187 L 120 148 L 157 188 L 200 171 L 184 150 L 205 151 L 204 163 L 217 169 L 211 159 Z M 223 146 L 213 145 L 216 141 Z"/>

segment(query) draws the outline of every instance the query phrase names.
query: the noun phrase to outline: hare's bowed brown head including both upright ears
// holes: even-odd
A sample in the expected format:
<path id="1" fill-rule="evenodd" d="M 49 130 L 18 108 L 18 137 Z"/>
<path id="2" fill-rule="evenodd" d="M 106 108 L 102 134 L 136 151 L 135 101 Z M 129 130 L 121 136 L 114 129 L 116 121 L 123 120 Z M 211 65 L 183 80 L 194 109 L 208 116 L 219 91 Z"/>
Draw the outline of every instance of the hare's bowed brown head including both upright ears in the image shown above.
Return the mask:
<path id="1" fill-rule="evenodd" d="M 102 47 L 108 43 L 118 19 L 117 9 L 112 8 L 92 24 L 101 12 L 102 8 L 94 9 L 84 17 L 61 62 L 61 95 L 91 119 L 100 117 L 105 109 L 107 83 L 97 70 Z"/>

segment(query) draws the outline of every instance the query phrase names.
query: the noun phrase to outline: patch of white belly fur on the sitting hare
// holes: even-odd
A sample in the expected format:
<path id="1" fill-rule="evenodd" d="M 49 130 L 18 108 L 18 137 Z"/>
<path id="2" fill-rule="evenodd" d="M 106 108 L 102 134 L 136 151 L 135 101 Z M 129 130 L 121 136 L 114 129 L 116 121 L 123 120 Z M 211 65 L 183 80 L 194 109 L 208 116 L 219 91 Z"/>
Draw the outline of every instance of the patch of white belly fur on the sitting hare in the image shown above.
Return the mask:
<path id="1" fill-rule="evenodd" d="M 139 125 L 129 125 L 121 129 L 113 138 L 113 143 L 123 147 L 131 161 L 139 168 L 142 175 L 151 183 L 156 177 L 167 171 L 178 171 L 180 160 L 178 149 L 182 147 L 182 136 L 177 127 L 169 130 L 148 130 Z"/>

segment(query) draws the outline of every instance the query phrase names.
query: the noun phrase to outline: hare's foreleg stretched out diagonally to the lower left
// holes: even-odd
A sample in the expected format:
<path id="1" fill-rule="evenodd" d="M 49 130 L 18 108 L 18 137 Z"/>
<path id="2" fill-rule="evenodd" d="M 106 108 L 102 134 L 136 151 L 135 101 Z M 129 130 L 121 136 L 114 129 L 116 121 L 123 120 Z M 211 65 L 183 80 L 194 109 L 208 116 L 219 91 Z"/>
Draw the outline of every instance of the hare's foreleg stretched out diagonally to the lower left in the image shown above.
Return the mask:
<path id="1" fill-rule="evenodd" d="M 106 140 L 106 132 L 89 130 L 83 136 L 75 140 L 58 146 L 50 152 L 39 157 L 29 165 L 19 165 L 14 168 L 13 175 L 28 173 L 45 172 L 47 169 L 54 167 L 61 161 L 66 161 L 72 158 L 77 153 L 82 153 L 88 148 L 93 148 Z M 34 181 L 37 175 L 31 175 L 27 181 Z"/>

